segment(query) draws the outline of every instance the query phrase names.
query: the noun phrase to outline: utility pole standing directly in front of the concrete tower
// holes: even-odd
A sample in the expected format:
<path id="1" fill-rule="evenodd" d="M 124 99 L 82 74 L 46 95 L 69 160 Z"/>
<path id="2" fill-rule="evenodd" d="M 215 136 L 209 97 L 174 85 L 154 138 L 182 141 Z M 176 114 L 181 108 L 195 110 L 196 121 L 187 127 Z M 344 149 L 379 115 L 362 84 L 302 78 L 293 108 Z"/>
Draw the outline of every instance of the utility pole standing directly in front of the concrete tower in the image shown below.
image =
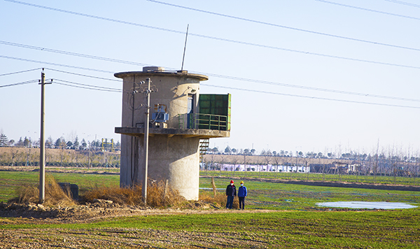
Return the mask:
<path id="1" fill-rule="evenodd" d="M 151 78 L 146 79 L 146 119 L 144 120 L 144 181 L 143 181 L 143 199 L 147 204 L 147 174 L 148 174 L 148 134 L 149 134 L 149 112 L 151 109 Z"/>

